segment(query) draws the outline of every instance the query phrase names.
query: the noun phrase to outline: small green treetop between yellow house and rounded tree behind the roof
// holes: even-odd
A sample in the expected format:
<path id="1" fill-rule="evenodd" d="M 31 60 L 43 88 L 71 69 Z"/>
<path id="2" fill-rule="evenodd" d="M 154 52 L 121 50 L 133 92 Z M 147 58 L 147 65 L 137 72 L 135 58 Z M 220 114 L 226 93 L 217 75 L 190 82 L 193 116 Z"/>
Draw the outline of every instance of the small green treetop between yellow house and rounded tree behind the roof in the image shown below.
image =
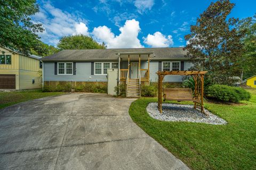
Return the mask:
<path id="1" fill-rule="evenodd" d="M 36 48 L 39 48 L 39 50 L 35 48 L 31 49 L 31 54 L 38 55 L 38 56 L 48 56 L 60 51 L 58 48 L 55 48 L 54 46 L 51 46 L 51 45 L 47 45 L 42 41 L 38 46 L 36 46 Z"/>

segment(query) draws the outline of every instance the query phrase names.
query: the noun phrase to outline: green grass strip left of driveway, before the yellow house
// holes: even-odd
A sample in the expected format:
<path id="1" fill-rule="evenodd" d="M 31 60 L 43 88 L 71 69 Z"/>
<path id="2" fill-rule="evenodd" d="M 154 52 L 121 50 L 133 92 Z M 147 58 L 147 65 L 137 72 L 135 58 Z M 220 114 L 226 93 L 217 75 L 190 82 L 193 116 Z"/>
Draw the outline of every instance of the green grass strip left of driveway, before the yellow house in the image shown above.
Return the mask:
<path id="1" fill-rule="evenodd" d="M 20 103 L 22 101 L 28 101 L 60 94 L 63 94 L 63 92 L 42 92 L 42 90 L 24 90 L 11 92 L 0 91 L 0 109 Z"/>

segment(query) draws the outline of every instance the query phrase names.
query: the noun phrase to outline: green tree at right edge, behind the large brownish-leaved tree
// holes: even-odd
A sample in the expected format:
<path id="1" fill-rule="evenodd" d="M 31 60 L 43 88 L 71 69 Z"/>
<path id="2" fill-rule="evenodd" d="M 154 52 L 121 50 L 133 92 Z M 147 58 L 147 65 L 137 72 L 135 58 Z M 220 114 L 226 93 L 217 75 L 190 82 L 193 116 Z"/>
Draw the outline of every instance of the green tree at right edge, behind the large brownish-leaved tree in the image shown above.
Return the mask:
<path id="1" fill-rule="evenodd" d="M 244 78 L 249 78 L 256 74 L 256 14 L 253 17 L 240 20 L 236 27 L 238 31 L 245 32 L 245 37 L 242 39 L 244 54 L 240 62 Z"/>

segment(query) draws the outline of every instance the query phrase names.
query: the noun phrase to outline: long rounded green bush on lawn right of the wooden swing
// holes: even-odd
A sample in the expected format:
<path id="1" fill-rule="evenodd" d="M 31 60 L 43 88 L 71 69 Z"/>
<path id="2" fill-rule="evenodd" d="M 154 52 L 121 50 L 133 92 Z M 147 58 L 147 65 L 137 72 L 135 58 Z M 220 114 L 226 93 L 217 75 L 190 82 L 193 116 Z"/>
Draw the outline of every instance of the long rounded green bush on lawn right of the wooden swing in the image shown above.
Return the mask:
<path id="1" fill-rule="evenodd" d="M 221 84 L 214 84 L 207 87 L 205 95 L 208 98 L 230 103 L 239 103 L 241 100 L 249 100 L 251 98 L 250 93 L 241 87 L 231 87 Z"/>

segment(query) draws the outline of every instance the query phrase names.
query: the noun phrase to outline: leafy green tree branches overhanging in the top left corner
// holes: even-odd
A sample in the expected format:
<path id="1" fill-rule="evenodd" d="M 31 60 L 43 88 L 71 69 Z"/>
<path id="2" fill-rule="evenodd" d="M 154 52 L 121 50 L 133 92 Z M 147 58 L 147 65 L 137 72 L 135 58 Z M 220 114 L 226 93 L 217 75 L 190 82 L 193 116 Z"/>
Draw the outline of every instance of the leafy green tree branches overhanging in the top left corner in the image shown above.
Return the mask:
<path id="1" fill-rule="evenodd" d="M 36 0 L 0 0 L 0 46 L 29 54 L 30 49 L 40 44 L 36 33 L 44 29 L 30 19 L 36 12 L 39 12 Z"/>

